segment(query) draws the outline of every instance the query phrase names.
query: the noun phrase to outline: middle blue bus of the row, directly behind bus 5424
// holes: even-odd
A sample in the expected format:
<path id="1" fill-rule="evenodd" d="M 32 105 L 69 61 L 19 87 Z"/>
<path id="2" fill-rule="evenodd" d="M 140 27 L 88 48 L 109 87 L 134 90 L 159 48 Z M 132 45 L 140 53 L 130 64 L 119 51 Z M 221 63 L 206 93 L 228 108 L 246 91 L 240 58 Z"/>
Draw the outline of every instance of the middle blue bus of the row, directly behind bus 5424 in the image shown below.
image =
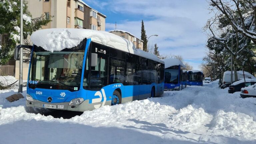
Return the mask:
<path id="1" fill-rule="evenodd" d="M 186 87 L 186 75 L 182 69 L 186 66 L 178 59 L 163 59 L 165 62 L 164 90 L 182 90 Z"/>

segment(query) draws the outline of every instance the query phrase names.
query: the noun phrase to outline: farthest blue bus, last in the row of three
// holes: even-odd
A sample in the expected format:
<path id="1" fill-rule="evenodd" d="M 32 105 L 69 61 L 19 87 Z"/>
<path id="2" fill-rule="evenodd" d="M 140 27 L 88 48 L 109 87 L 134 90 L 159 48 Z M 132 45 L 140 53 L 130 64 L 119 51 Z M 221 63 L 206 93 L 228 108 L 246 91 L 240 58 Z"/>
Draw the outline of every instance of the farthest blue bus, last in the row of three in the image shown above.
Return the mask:
<path id="1" fill-rule="evenodd" d="M 188 70 L 188 81 L 187 85 L 202 86 L 204 74 L 199 70 Z"/>

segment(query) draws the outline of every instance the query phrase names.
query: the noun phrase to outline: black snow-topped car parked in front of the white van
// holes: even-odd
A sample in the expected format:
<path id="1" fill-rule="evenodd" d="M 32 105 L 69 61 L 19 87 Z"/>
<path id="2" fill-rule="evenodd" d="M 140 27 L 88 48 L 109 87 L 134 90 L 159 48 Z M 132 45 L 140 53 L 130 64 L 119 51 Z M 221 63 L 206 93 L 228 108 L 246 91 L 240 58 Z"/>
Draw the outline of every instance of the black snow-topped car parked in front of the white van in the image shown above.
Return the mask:
<path id="1" fill-rule="evenodd" d="M 256 79 L 245 79 L 245 85 L 244 85 L 244 79 L 241 79 L 239 81 L 234 82 L 232 85 L 229 85 L 228 93 L 234 93 L 241 90 L 241 88 L 244 88 L 245 86 L 248 87 L 250 85 L 254 85 L 256 83 Z"/>

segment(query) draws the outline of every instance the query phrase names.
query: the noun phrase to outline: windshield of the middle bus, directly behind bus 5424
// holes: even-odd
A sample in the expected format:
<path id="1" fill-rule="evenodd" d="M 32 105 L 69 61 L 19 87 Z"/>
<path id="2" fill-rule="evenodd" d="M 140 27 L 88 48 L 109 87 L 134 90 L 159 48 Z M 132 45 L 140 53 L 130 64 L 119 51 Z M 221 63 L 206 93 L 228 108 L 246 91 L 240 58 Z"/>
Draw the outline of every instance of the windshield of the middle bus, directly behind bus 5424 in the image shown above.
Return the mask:
<path id="1" fill-rule="evenodd" d="M 165 83 L 177 84 L 179 81 L 179 70 L 165 70 Z"/>

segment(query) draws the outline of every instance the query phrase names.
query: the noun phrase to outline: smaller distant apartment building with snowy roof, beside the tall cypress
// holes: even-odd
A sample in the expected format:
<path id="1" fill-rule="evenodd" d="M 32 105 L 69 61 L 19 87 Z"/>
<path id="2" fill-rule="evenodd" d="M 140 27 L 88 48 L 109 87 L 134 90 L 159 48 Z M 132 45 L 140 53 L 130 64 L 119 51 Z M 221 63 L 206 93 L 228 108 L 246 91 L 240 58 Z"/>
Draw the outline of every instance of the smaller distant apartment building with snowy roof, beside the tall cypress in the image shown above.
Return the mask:
<path id="1" fill-rule="evenodd" d="M 133 34 L 123 30 L 112 30 L 109 32 L 131 41 L 137 49 L 143 50 L 144 41 L 135 37 Z"/>

